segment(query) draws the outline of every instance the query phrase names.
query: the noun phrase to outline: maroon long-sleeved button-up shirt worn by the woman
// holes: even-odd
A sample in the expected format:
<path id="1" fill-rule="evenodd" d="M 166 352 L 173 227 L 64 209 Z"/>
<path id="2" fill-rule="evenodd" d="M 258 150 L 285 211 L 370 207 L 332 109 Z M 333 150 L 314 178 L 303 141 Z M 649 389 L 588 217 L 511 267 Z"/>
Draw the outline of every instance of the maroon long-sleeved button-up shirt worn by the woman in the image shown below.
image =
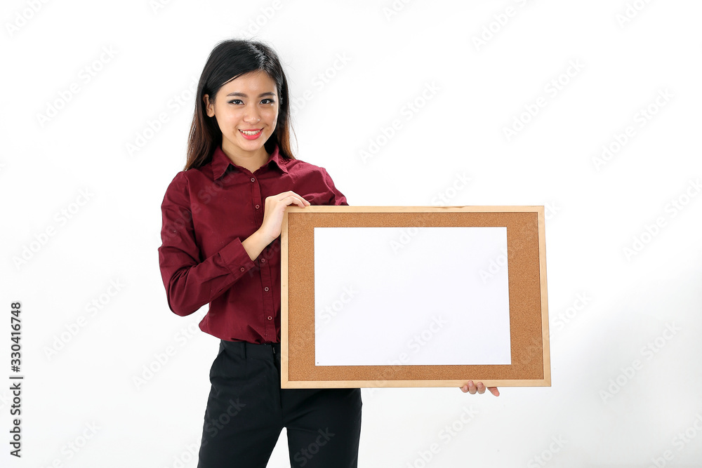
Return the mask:
<path id="1" fill-rule="evenodd" d="M 312 205 L 347 205 L 324 168 L 280 157 L 251 173 L 220 147 L 179 172 L 161 204 L 159 265 L 168 307 L 180 316 L 209 303 L 200 329 L 222 340 L 280 341 L 280 238 L 251 260 L 241 241 L 263 222 L 267 196 L 292 190 Z"/>

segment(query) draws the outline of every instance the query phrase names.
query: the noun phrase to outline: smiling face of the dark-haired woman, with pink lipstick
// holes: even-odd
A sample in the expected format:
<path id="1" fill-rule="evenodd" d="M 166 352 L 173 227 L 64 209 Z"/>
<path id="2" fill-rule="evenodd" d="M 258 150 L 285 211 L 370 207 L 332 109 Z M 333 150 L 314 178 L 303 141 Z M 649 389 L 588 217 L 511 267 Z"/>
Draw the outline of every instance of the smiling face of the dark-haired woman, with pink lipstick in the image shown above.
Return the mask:
<path id="1" fill-rule="evenodd" d="M 265 72 L 251 72 L 222 86 L 214 102 L 205 95 L 207 115 L 217 119 L 225 154 L 247 160 L 268 157 L 263 144 L 275 130 L 278 95 Z M 252 158 L 252 159 L 249 159 Z"/>

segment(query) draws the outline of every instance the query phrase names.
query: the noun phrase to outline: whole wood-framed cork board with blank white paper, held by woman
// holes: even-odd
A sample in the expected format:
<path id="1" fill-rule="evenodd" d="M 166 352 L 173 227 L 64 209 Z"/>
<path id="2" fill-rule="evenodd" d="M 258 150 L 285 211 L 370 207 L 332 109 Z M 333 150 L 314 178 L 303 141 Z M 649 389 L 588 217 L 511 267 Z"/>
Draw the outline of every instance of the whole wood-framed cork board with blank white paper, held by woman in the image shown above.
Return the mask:
<path id="1" fill-rule="evenodd" d="M 283 388 L 550 386 L 543 206 L 288 207 Z"/>

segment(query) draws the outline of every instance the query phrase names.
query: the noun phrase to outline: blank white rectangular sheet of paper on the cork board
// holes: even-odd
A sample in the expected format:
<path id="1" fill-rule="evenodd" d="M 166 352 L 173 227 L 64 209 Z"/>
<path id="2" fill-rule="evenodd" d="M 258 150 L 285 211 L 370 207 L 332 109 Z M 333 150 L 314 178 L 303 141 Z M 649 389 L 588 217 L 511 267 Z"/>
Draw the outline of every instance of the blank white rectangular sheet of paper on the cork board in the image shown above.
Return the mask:
<path id="1" fill-rule="evenodd" d="M 506 227 L 314 227 L 315 365 L 511 364 L 509 265 L 480 274 L 505 251 Z"/>

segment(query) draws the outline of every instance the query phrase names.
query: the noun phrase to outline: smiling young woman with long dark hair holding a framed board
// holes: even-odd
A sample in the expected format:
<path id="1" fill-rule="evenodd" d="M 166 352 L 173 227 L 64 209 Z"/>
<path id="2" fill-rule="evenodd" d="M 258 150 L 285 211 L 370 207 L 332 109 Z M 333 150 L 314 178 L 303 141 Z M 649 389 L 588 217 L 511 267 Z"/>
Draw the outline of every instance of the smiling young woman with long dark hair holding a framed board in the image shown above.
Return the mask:
<path id="1" fill-rule="evenodd" d="M 290 132 L 272 48 L 218 44 L 197 86 L 185 171 L 161 205 L 159 248 L 171 310 L 185 316 L 209 304 L 200 328 L 220 338 L 199 468 L 265 467 L 283 427 L 293 467 L 357 466 L 360 390 L 280 388 L 285 207 L 347 204 L 324 168 L 294 158 Z"/>

